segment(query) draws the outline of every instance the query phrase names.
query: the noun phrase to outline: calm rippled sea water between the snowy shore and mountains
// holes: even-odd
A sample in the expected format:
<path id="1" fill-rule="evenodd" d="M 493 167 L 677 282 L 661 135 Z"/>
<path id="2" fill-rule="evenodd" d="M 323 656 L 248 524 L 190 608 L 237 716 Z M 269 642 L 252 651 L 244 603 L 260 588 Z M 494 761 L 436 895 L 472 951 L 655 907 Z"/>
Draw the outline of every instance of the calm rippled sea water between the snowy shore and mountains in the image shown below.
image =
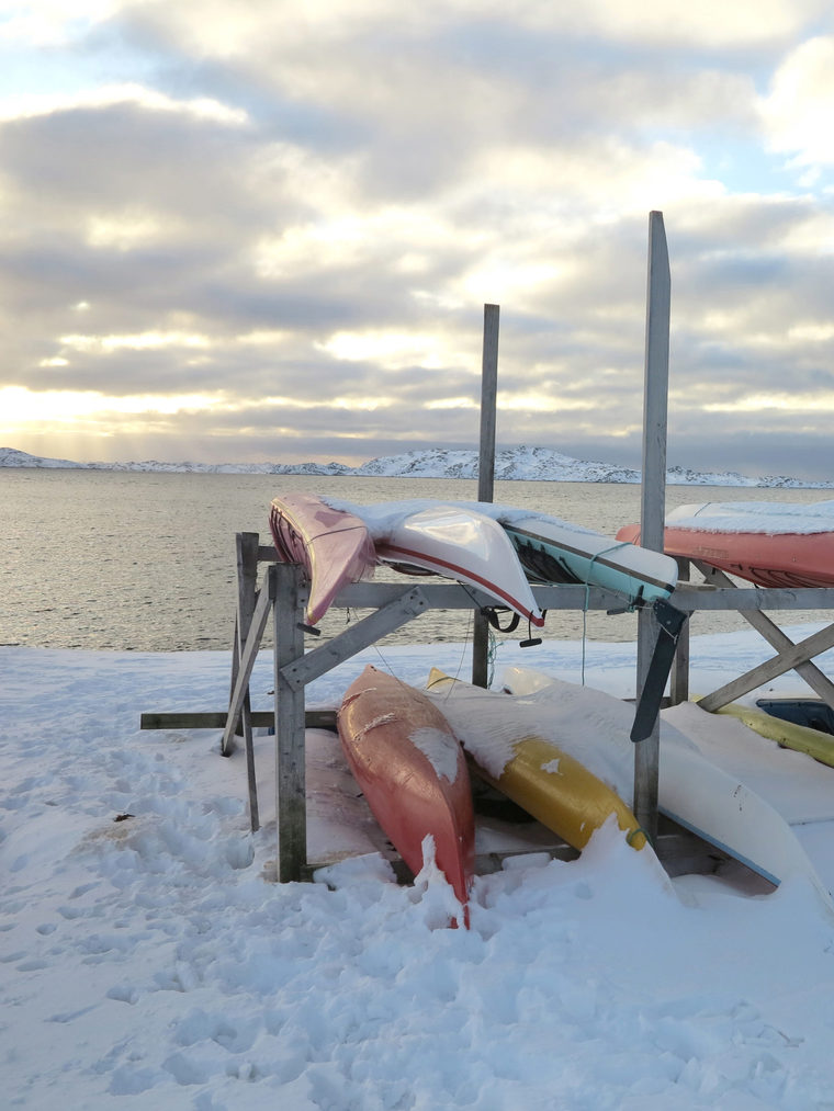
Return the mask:
<path id="1" fill-rule="evenodd" d="M 0 643 L 39 648 L 228 649 L 235 624 L 235 533 L 269 542 L 279 493 L 310 490 L 369 504 L 410 498 L 473 500 L 477 484 L 453 479 L 356 479 L 265 474 L 155 474 L 0 468 L 3 587 Z M 817 501 L 818 490 L 671 487 L 685 502 Z M 495 500 L 543 510 L 613 536 L 639 517 L 639 487 L 498 482 Z M 384 572 L 384 578 L 396 578 Z M 414 580 L 407 580 L 414 582 Z M 793 622 L 810 614 L 792 614 Z M 816 614 L 814 614 L 816 617 Z M 344 611 L 322 623 L 341 629 Z M 696 615 L 693 632 L 747 628 L 733 614 Z M 582 634 L 583 618 L 548 614 L 544 635 Z M 628 640 L 633 614 L 588 614 L 588 635 Z M 519 628 L 518 635 L 522 635 Z M 463 641 L 470 618 L 434 611 L 388 640 Z"/>

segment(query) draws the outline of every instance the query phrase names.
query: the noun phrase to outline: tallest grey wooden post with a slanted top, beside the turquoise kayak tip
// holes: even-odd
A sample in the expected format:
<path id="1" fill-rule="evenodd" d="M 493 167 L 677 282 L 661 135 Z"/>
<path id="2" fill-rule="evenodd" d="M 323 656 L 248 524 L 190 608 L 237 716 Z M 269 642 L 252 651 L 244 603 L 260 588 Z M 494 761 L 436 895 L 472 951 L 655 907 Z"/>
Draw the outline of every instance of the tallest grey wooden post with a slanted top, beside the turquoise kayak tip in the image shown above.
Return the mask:
<path id="1" fill-rule="evenodd" d="M 663 551 L 666 517 L 666 414 L 669 374 L 669 310 L 672 279 L 663 213 L 648 217 L 648 278 L 646 289 L 646 364 L 643 398 L 643 488 L 641 544 Z M 637 618 L 637 698 L 648 672 L 659 628 L 654 613 Z M 652 841 L 657 837 L 659 722 L 635 744 L 634 813 Z"/>

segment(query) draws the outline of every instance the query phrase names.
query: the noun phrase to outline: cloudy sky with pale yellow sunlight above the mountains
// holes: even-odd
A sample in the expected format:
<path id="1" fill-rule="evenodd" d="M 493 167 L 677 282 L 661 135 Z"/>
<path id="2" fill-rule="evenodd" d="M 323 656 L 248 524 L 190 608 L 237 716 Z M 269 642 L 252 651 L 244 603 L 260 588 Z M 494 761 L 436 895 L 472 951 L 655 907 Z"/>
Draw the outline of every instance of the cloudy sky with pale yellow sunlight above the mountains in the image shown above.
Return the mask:
<path id="1" fill-rule="evenodd" d="M 0 444 L 834 470 L 826 0 L 0 0 Z"/>

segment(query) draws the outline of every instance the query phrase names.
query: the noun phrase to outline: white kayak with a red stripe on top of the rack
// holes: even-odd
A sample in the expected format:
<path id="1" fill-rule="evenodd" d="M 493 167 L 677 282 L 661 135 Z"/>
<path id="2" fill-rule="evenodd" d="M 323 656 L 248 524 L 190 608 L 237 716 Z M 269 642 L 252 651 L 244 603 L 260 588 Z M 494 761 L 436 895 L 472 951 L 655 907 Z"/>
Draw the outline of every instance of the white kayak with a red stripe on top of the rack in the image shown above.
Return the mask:
<path id="1" fill-rule="evenodd" d="M 474 508 L 441 501 L 354 506 L 331 500 L 365 521 L 377 559 L 414 573 L 429 572 L 477 587 L 495 604 L 514 610 L 534 625 L 544 613 L 504 529 Z"/>

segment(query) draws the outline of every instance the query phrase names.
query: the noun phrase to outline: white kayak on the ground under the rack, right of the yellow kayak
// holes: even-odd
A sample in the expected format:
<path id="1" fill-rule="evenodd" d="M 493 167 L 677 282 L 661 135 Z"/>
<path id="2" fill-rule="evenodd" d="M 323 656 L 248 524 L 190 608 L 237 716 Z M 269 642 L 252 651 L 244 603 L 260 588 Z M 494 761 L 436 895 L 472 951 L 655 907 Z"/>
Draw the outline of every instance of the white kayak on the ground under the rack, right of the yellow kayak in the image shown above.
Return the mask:
<path id="1" fill-rule="evenodd" d="M 584 743 L 597 750 L 607 745 L 612 757 L 629 754 L 633 767 L 628 703 L 528 668 L 507 668 L 503 685 L 508 693 L 540 700 L 554 728 L 558 722 L 565 733 L 573 733 L 579 751 Z M 834 911 L 830 892 L 782 814 L 666 722 L 661 723 L 658 810 L 771 883 L 778 885 L 797 873 L 806 877 Z"/>

